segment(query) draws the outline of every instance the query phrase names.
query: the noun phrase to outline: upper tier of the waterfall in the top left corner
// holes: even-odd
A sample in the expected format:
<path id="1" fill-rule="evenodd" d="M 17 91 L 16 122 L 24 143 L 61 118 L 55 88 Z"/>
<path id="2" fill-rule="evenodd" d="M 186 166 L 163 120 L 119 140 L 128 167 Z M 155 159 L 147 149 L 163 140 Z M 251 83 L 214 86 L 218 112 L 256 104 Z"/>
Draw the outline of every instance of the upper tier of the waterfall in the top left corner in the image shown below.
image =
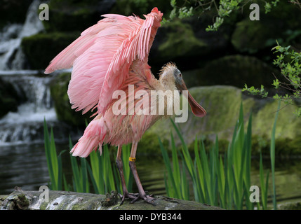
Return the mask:
<path id="1" fill-rule="evenodd" d="M 39 33 L 44 29 L 37 9 L 39 0 L 34 0 L 27 10 L 24 25 L 9 24 L 0 32 L 0 70 L 24 69 L 25 55 L 20 48 L 22 38 Z"/>

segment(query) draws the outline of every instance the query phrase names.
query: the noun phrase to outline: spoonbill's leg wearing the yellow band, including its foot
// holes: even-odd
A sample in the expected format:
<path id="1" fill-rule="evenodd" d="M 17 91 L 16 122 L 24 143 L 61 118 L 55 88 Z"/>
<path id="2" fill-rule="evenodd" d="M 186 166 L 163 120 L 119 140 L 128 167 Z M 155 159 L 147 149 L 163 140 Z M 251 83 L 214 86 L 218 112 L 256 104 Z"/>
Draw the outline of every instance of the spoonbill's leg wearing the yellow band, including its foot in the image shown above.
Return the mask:
<path id="1" fill-rule="evenodd" d="M 133 201 L 131 201 L 131 203 L 134 203 L 139 198 L 141 198 L 142 200 L 145 200 L 145 202 L 147 202 L 149 204 L 154 204 L 154 202 L 153 202 L 154 197 L 150 197 L 149 195 L 145 194 L 145 190 L 143 190 L 142 184 L 141 184 L 139 176 L 138 176 L 138 172 L 137 172 L 136 165 L 135 165 L 135 155 L 136 155 L 136 151 L 137 151 L 137 146 L 138 146 L 138 143 L 133 142 L 129 164 L 130 164 L 131 171 L 133 173 L 135 182 L 136 182 L 137 187 L 138 187 L 139 195 L 138 195 L 138 197 L 135 197 L 135 199 Z"/>

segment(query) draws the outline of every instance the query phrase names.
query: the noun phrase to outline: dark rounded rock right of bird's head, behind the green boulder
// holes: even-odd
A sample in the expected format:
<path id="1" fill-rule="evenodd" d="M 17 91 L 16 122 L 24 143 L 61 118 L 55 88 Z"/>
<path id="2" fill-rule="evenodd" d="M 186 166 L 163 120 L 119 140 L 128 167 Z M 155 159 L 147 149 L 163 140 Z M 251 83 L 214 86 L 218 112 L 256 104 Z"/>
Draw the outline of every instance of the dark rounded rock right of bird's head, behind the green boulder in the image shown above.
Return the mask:
<path id="1" fill-rule="evenodd" d="M 246 55 L 227 55 L 214 59 L 200 69 L 182 71 L 187 87 L 200 85 L 233 85 L 243 88 L 258 83 L 269 87 L 273 83 L 273 73 L 279 71 L 262 62 L 257 57 Z"/>

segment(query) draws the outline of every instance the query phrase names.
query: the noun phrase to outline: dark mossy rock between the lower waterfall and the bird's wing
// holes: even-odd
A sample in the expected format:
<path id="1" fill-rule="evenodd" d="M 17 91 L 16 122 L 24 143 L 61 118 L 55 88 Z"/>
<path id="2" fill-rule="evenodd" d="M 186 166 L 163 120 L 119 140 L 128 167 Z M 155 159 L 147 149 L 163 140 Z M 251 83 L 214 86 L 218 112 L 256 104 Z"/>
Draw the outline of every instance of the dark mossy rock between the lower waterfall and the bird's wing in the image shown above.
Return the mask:
<path id="1" fill-rule="evenodd" d="M 89 123 L 91 120 L 91 113 L 83 116 L 81 111 L 76 112 L 74 109 L 71 109 L 67 94 L 70 76 L 71 73 L 60 73 L 52 80 L 51 97 L 53 98 L 55 112 L 58 120 L 64 121 L 74 127 L 85 127 L 86 121 Z"/>

